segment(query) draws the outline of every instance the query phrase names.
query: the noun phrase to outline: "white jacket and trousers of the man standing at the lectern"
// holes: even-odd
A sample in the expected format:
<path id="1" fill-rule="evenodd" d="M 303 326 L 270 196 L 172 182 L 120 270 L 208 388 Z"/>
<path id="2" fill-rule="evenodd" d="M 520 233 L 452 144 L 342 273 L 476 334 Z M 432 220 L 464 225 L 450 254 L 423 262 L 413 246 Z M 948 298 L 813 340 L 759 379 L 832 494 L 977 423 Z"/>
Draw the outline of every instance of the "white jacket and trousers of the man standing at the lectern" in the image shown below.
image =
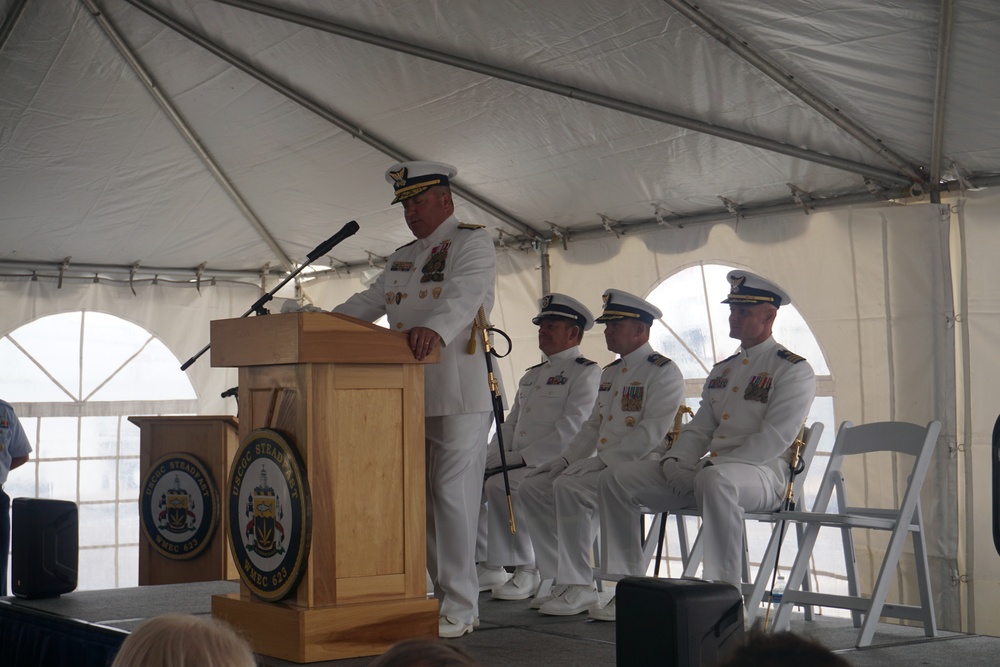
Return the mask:
<path id="1" fill-rule="evenodd" d="M 493 404 L 480 343 L 466 346 L 480 306 L 493 308 L 496 251 L 481 228 L 450 216 L 427 238 L 396 250 L 364 292 L 333 312 L 395 331 L 427 327 L 441 336 L 441 361 L 424 368 L 427 441 L 427 569 L 439 613 L 471 624 L 479 615 L 476 521 Z"/>

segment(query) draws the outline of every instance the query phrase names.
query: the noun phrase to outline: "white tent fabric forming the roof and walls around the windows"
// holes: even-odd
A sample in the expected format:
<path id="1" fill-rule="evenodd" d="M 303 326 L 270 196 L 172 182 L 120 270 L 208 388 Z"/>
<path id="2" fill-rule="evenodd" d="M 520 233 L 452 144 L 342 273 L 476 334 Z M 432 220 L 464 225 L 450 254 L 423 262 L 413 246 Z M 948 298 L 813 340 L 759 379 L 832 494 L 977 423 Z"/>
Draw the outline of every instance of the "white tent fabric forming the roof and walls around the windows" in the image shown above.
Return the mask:
<path id="1" fill-rule="evenodd" d="M 318 262 L 336 271 L 304 286 L 336 304 L 409 240 L 385 168 L 444 160 L 459 216 L 498 239 L 508 384 L 537 360 L 543 286 L 596 309 L 606 287 L 648 294 L 699 263 L 767 275 L 823 349 L 838 420 L 944 424 L 924 494 L 941 625 L 1000 634 L 975 594 L 1000 583 L 985 398 L 1000 195 L 976 191 L 1000 183 L 994 2 L 268 6 L 299 18 L 244 0 L 0 0 L 0 334 L 93 309 L 186 359 L 357 219 Z M 610 360 L 599 335 L 584 351 Z M 200 412 L 229 410 L 233 371 L 187 372 Z M 857 474 L 858 493 L 893 490 L 891 462 Z"/>

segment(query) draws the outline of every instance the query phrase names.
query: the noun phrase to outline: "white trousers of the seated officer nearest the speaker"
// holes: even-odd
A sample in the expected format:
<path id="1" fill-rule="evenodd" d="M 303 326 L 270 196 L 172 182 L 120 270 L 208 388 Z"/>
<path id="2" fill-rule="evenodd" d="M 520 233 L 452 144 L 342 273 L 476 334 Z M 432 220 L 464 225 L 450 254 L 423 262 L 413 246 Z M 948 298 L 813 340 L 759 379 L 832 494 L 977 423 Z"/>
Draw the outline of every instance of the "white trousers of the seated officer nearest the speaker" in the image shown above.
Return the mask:
<path id="1" fill-rule="evenodd" d="M 510 532 L 510 513 L 507 509 L 507 491 L 503 484 L 503 473 L 497 473 L 483 484 L 483 496 L 487 502 L 487 550 L 486 562 L 490 565 L 534 565 L 535 551 L 531 548 L 530 529 L 525 521 L 519 489 L 530 468 L 508 470 L 510 498 L 514 506 L 514 527 Z"/>

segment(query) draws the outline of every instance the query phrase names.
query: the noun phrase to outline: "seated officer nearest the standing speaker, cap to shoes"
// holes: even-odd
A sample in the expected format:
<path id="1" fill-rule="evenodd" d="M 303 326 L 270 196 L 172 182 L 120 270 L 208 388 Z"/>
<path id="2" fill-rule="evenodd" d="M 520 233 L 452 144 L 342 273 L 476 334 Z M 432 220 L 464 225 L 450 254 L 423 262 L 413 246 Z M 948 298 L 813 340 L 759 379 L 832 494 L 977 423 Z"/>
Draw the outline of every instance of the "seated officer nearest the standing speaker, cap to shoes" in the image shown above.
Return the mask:
<path id="1" fill-rule="evenodd" d="M 486 517 L 480 512 L 479 528 L 485 553 L 480 558 L 479 587 L 492 588 L 499 600 L 524 600 L 538 590 L 541 580 L 517 489 L 529 471 L 566 450 L 594 407 L 601 378 L 597 362 L 580 354 L 583 332 L 594 326 L 587 307 L 565 294 L 546 294 L 539 305 L 538 316 L 531 321 L 538 325 L 538 349 L 545 361 L 521 377 L 501 427 L 511 468 L 507 474 L 517 529 L 513 535 L 503 475 L 496 473 L 501 464 L 496 436 L 486 454 L 487 475 L 496 474 L 483 485 Z M 503 565 L 515 566 L 509 581 Z"/>

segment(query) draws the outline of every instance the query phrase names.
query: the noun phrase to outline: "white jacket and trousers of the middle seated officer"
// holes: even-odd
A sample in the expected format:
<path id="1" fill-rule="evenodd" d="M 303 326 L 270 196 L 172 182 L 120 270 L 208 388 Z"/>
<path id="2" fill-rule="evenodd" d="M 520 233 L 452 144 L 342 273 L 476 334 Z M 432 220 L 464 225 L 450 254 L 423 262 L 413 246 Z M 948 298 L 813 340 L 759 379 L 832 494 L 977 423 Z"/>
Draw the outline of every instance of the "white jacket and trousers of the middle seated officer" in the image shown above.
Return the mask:
<path id="1" fill-rule="evenodd" d="M 649 343 L 605 367 L 594 409 L 563 454 L 570 467 L 555 480 L 535 475 L 520 487 L 543 579 L 554 578 L 557 584 L 593 582 L 590 552 L 598 530 L 599 468 L 659 458 L 683 400 L 680 370 Z M 595 469 L 573 474 L 573 464 L 582 464 L 595 451 L 599 461 L 588 462 Z"/>

